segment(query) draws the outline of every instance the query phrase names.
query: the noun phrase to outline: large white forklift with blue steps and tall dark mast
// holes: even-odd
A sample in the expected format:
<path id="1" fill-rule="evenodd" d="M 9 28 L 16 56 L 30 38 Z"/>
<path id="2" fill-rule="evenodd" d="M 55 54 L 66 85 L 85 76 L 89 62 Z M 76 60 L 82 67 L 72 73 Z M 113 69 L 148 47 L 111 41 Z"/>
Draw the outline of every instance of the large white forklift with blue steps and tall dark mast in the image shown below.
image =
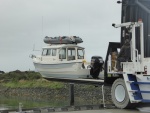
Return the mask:
<path id="1" fill-rule="evenodd" d="M 104 84 L 111 85 L 112 101 L 118 108 L 134 108 L 150 103 L 150 0 L 122 0 L 120 42 L 109 42 L 104 70 Z M 125 43 L 126 33 L 130 38 L 130 61 L 120 62 L 119 53 Z"/>

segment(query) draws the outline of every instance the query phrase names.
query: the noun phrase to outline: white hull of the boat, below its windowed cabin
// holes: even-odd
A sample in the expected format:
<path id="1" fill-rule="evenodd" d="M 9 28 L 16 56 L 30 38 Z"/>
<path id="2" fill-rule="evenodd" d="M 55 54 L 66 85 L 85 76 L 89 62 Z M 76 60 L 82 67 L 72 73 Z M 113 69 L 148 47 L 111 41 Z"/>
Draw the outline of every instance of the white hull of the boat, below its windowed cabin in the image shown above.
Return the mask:
<path id="1" fill-rule="evenodd" d="M 56 64 L 40 64 L 34 63 L 38 72 L 44 78 L 88 78 L 89 69 L 82 69 L 81 62 L 56 63 Z"/>

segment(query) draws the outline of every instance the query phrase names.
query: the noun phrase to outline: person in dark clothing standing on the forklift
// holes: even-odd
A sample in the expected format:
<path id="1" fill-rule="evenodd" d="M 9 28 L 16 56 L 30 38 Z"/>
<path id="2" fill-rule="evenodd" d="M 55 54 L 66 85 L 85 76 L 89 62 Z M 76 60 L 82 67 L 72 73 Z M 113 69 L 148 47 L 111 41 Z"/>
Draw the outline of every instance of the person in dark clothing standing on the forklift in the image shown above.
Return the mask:
<path id="1" fill-rule="evenodd" d="M 120 49 L 120 53 L 117 56 L 117 71 L 122 71 L 121 62 L 127 62 L 131 60 L 131 50 L 130 50 L 130 40 L 127 36 L 125 39 L 125 43 Z"/>

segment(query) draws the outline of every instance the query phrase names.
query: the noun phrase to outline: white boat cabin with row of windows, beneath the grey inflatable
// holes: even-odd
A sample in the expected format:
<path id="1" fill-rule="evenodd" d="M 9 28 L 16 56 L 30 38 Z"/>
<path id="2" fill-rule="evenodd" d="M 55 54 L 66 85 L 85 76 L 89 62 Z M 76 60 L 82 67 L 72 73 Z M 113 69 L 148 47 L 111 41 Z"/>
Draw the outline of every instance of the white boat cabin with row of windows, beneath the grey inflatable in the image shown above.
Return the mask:
<path id="1" fill-rule="evenodd" d="M 84 48 L 76 44 L 49 45 L 42 49 L 43 61 L 79 61 L 85 58 Z"/>

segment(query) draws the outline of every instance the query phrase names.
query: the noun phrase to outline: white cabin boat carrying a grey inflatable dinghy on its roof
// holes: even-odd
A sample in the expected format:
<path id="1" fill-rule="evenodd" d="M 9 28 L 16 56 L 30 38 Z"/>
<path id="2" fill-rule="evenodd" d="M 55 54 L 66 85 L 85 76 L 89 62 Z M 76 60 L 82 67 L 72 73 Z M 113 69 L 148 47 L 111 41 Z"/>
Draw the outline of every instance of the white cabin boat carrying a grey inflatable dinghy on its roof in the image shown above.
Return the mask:
<path id="1" fill-rule="evenodd" d="M 39 56 L 31 55 L 36 71 L 44 78 L 88 78 L 90 69 L 85 61 L 82 39 L 76 36 L 44 38 L 48 44 Z"/>

